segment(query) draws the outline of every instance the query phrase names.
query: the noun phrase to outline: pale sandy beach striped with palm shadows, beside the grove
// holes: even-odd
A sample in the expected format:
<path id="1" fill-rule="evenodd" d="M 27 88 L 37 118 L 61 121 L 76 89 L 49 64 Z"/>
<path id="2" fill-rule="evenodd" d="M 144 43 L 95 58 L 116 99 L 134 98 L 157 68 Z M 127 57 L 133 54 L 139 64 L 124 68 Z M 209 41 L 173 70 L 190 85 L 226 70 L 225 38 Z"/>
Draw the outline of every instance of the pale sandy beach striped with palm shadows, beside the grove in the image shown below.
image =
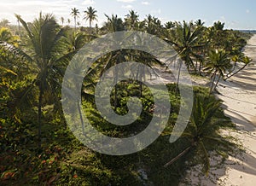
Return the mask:
<path id="1" fill-rule="evenodd" d="M 236 137 L 246 152 L 234 152 L 223 166 L 217 163 L 221 157 L 212 154 L 209 177 L 201 174 L 200 166 L 195 166 L 181 185 L 256 185 L 256 35 L 248 41 L 244 52 L 253 64 L 227 82 L 220 82 L 218 97 L 224 101 L 225 114 L 237 126 L 237 131 L 223 134 Z"/>

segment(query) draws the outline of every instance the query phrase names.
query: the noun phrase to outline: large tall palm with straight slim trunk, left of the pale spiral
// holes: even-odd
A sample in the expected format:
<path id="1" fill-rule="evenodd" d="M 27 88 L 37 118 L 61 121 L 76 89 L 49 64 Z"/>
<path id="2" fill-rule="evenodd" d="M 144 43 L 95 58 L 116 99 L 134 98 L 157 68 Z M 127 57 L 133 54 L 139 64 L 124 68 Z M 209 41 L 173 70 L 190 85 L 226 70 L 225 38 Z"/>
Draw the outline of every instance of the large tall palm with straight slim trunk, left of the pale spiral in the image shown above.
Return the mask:
<path id="1" fill-rule="evenodd" d="M 10 47 L 9 44 L 3 44 L 15 55 L 23 56 L 26 61 L 32 63 L 33 73 L 36 78 L 31 84 L 38 87 L 38 146 L 41 148 L 41 125 L 42 125 L 42 107 L 46 102 L 46 96 L 56 96 L 56 86 L 58 79 L 62 76 L 68 60 L 73 53 L 64 54 L 61 46 L 61 38 L 64 34 L 64 28 L 59 28 L 53 15 L 42 15 L 31 24 L 27 24 L 19 16 L 16 17 L 27 32 L 28 49 L 26 52 L 22 49 Z M 51 92 L 49 94 L 49 92 Z M 56 101 L 56 100 L 55 100 Z M 56 101 L 59 102 L 59 101 Z"/>

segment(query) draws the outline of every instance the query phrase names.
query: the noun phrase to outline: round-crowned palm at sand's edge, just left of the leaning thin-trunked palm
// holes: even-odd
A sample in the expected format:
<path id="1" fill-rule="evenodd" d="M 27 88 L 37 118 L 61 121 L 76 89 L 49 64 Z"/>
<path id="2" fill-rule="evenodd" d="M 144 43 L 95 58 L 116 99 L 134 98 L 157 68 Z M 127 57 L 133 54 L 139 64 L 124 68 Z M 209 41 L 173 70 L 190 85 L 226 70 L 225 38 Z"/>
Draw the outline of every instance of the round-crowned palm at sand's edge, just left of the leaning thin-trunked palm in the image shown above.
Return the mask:
<path id="1" fill-rule="evenodd" d="M 209 73 L 212 73 L 212 85 L 210 88 L 210 94 L 212 90 L 215 90 L 215 88 L 217 87 L 219 79 L 223 78 L 224 73 L 227 70 L 229 70 L 231 67 L 232 65 L 231 65 L 229 54 L 225 50 L 215 49 L 209 52 L 205 70 Z M 213 89 L 214 82 L 217 76 L 218 76 L 218 79 Z"/>

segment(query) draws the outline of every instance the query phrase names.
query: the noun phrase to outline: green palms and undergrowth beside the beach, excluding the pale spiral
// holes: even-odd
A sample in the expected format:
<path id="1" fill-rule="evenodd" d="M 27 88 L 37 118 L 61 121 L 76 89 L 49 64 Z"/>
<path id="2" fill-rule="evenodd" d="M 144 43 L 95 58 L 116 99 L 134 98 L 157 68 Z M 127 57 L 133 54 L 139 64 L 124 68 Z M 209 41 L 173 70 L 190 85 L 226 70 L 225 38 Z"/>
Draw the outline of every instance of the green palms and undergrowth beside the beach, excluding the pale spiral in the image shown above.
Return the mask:
<path id="1" fill-rule="evenodd" d="M 169 21 L 163 26 L 152 15 L 139 20 L 133 10 L 124 20 L 106 15 L 106 23 L 98 28 L 91 27 L 97 11 L 90 7 L 84 13 L 90 27 L 79 26 L 76 8 L 71 12 L 74 27 L 63 26 L 68 18 L 62 17 L 60 26 L 54 15 L 42 13 L 32 23 L 15 15 L 19 26 L 9 26 L 8 20 L 0 22 L 1 185 L 177 185 L 187 167 L 198 164 L 207 174 L 211 152 L 225 158 L 234 146 L 219 134 L 220 128 L 234 125 L 212 93 L 220 78 L 236 75 L 251 61 L 241 52 L 250 35 L 224 30 L 221 22 L 206 27 L 201 20 Z M 212 84 L 194 87 L 189 125 L 177 142 L 169 142 L 182 103 L 176 82 L 166 85 L 172 110 L 160 137 L 136 154 L 110 156 L 84 147 L 69 131 L 61 110 L 61 81 L 68 62 L 84 44 L 124 30 L 163 38 L 176 49 L 189 73 L 212 78 Z M 129 126 L 111 125 L 97 111 L 95 85 L 102 73 L 122 61 L 139 61 L 148 67 L 162 65 L 154 56 L 131 49 L 110 52 L 94 62 L 84 77 L 83 112 L 91 125 L 110 137 L 129 137 L 143 131 L 154 113 L 150 90 L 131 80 L 117 84 L 110 100 L 116 113 L 125 114 L 127 97 L 139 97 L 143 112 L 137 121 Z M 235 71 L 240 62 L 241 69 Z"/>

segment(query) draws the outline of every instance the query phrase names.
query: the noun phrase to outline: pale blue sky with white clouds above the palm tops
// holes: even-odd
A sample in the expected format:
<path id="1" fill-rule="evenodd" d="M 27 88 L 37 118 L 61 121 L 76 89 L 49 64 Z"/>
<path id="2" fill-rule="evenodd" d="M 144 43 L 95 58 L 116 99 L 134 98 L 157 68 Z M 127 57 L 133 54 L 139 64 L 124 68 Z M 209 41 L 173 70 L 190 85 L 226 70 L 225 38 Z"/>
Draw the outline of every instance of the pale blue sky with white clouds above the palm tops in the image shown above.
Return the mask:
<path id="1" fill-rule="evenodd" d="M 57 20 L 63 16 L 66 20 L 73 7 L 79 9 L 79 22 L 84 26 L 89 23 L 83 20 L 84 10 L 92 6 L 97 10 L 98 24 L 106 21 L 107 15 L 119 15 L 124 18 L 133 9 L 140 15 L 151 14 L 162 22 L 167 20 L 198 20 L 211 26 L 216 20 L 225 22 L 226 28 L 256 30 L 256 1 L 255 0 L 1 0 L 0 20 L 8 19 L 15 24 L 15 13 L 26 21 L 32 21 L 43 13 L 53 13 Z"/>

